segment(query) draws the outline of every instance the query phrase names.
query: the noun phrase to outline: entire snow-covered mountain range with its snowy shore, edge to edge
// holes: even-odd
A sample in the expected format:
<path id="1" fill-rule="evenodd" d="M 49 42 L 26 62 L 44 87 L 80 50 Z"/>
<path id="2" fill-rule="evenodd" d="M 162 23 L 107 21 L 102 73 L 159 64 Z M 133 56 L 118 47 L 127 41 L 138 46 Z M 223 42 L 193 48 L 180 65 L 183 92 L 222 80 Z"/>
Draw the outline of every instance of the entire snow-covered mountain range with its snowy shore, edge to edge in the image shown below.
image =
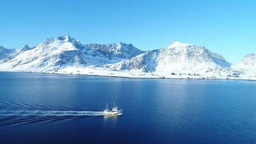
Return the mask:
<path id="1" fill-rule="evenodd" d="M 166 48 L 144 52 L 132 44 L 81 44 L 63 35 L 33 48 L 27 44 L 17 50 L 0 46 L 0 71 L 256 79 L 256 54 L 248 54 L 232 65 L 203 46 L 177 40 Z"/>

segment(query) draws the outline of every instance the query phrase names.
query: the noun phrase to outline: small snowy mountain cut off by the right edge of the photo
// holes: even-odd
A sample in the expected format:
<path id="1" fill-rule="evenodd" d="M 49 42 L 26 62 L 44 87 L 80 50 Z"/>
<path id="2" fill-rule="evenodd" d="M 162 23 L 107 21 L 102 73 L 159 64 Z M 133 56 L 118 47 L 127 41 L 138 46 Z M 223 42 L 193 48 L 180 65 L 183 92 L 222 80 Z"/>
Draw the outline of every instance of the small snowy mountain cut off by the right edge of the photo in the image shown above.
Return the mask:
<path id="1" fill-rule="evenodd" d="M 244 68 L 248 70 L 256 70 L 256 54 L 251 53 L 244 56 L 243 60 L 236 65 L 232 65 L 233 68 Z"/>

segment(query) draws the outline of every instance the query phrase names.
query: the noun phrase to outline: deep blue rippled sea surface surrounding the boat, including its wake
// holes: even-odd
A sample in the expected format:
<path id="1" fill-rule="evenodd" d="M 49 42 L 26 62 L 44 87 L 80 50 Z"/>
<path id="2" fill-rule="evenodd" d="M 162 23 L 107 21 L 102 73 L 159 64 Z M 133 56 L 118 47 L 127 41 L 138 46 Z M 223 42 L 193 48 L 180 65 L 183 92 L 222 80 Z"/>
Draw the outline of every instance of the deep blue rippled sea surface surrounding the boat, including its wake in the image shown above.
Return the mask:
<path id="1" fill-rule="evenodd" d="M 82 142 L 256 143 L 256 81 L 0 72 L 1 144 Z"/>

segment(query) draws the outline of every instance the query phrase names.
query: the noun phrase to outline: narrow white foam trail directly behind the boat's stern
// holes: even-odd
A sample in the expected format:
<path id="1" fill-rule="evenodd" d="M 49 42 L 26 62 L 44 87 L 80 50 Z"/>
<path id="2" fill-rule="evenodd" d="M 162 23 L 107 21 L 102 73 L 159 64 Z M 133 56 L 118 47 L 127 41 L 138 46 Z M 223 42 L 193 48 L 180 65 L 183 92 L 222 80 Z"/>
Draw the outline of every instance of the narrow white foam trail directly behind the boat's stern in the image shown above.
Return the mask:
<path id="1" fill-rule="evenodd" d="M 0 116 L 104 116 L 94 111 L 0 111 Z"/>

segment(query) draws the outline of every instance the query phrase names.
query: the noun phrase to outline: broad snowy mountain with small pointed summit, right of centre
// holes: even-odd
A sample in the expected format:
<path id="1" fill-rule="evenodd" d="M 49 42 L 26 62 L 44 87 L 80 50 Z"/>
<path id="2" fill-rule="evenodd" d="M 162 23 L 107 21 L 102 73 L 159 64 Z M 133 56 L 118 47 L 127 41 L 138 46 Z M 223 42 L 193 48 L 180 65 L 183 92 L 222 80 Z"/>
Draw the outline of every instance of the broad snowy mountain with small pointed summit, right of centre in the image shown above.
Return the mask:
<path id="1" fill-rule="evenodd" d="M 108 64 L 106 67 L 126 71 L 184 72 L 230 65 L 222 56 L 202 46 L 183 44 L 174 40 L 167 48 L 148 51 L 131 60 Z"/>

